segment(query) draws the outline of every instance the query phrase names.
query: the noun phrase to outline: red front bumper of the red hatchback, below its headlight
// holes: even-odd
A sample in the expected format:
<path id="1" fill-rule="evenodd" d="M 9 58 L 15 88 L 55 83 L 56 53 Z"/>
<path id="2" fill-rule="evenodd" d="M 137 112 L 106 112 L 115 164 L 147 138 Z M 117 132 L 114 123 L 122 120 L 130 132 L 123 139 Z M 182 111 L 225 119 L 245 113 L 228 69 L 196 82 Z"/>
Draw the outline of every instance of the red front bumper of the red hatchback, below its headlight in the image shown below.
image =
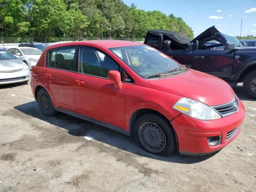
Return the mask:
<path id="1" fill-rule="evenodd" d="M 232 142 L 240 133 L 244 121 L 244 106 L 239 99 L 238 104 L 239 110 L 236 113 L 216 120 L 203 121 L 184 114 L 172 120 L 180 154 L 205 155 Z M 220 142 L 210 146 L 207 138 L 215 136 L 220 137 Z"/>

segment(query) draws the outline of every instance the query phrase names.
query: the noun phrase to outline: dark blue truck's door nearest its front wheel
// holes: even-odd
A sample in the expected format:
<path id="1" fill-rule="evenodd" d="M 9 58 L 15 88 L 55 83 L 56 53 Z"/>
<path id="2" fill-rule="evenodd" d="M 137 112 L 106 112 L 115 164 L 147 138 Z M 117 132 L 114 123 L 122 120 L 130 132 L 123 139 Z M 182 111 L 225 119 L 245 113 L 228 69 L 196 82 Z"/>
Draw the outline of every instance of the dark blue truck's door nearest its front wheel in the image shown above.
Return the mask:
<path id="1" fill-rule="evenodd" d="M 233 50 L 193 50 L 191 68 L 222 79 L 229 79 L 233 60 Z"/>

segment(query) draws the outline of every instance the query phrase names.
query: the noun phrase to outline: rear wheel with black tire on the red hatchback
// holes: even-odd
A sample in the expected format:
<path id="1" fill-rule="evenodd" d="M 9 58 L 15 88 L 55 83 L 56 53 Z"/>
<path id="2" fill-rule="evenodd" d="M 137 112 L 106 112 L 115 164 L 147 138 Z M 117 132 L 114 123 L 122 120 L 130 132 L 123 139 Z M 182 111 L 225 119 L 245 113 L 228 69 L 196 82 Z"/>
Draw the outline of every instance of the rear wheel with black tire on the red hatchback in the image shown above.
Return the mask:
<path id="1" fill-rule="evenodd" d="M 40 89 L 37 94 L 37 102 L 40 111 L 46 116 L 55 115 L 57 112 L 54 110 L 50 95 L 45 89 Z"/>

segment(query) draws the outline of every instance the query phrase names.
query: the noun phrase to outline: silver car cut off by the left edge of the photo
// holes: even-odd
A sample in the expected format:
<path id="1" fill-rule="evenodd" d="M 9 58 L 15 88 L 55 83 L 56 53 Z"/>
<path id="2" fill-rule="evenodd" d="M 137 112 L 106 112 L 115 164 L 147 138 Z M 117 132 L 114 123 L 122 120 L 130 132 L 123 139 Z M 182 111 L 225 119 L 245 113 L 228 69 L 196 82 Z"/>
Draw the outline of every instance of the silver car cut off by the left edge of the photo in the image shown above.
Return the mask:
<path id="1" fill-rule="evenodd" d="M 7 50 L 0 49 L 0 85 L 28 82 L 30 79 L 28 65 Z"/>

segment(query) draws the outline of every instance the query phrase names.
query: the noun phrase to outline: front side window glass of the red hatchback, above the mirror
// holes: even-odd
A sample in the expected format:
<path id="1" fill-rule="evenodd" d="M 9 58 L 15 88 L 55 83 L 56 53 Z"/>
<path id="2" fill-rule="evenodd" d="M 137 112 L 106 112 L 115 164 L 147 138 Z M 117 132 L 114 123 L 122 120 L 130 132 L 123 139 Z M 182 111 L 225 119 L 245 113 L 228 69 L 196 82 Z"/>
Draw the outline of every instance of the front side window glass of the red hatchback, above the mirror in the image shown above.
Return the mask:
<path id="1" fill-rule="evenodd" d="M 104 78 L 110 70 L 118 70 L 118 64 L 110 56 L 91 47 L 80 48 L 79 63 L 82 73 Z"/>

